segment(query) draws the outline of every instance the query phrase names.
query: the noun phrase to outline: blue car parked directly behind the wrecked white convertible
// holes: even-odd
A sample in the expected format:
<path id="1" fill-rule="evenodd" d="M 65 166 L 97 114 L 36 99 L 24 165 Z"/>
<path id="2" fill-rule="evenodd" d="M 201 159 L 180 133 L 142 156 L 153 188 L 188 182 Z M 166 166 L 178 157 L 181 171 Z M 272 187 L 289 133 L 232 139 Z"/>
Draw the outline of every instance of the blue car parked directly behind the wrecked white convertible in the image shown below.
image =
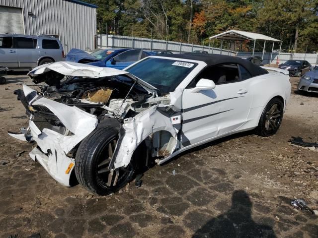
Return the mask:
<path id="1" fill-rule="evenodd" d="M 153 55 L 155 55 L 154 52 L 144 51 L 143 49 L 97 49 L 91 54 L 72 49 L 66 56 L 65 61 L 124 69 L 138 60 Z"/>

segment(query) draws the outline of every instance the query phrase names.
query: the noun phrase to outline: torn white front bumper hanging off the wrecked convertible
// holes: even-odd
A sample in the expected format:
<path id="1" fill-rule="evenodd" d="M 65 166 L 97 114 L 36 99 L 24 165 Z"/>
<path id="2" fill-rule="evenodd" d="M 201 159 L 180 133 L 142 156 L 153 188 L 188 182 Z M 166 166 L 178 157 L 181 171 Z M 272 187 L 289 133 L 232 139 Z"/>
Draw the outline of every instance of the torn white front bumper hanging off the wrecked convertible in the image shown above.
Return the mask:
<path id="1" fill-rule="evenodd" d="M 34 161 L 38 161 L 58 182 L 69 186 L 74 166 L 71 169 L 69 167 L 71 164 L 74 165 L 75 162 L 68 154 L 96 128 L 98 120 L 95 116 L 77 107 L 70 107 L 41 97 L 37 95 L 35 90 L 25 85 L 23 85 L 23 95 L 20 93 L 19 97 L 27 112 L 30 113 L 29 127 L 22 134 L 8 134 L 23 141 L 35 141 L 37 147 L 29 153 L 30 157 Z M 63 123 L 69 133 L 63 135 L 48 128 L 40 130 L 33 121 L 34 112 L 30 111 L 32 106 L 46 107 Z"/>

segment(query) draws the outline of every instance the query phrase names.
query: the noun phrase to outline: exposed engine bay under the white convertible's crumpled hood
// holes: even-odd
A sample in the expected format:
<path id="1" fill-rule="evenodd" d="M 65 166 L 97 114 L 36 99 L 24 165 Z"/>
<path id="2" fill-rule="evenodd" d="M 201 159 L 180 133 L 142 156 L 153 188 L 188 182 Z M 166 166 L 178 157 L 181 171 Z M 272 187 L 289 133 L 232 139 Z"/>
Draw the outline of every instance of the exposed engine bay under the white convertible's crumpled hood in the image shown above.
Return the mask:
<path id="1" fill-rule="evenodd" d="M 48 78 L 40 88 L 44 97 L 68 106 L 76 106 L 97 117 L 116 116 L 125 119 L 134 117 L 154 105 L 170 102 L 169 95 L 150 95 L 125 75 L 97 79 L 64 76 L 61 81 L 56 81 L 54 77 Z"/>

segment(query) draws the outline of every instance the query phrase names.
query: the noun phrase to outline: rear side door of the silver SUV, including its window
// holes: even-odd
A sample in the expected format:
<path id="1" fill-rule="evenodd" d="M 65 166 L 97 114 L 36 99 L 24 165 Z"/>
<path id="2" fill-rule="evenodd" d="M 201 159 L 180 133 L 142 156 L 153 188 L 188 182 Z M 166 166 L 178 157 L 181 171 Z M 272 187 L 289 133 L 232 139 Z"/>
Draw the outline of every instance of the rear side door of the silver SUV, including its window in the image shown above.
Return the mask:
<path id="1" fill-rule="evenodd" d="M 37 39 L 31 37 L 13 37 L 13 45 L 16 48 L 18 67 L 33 68 L 39 59 Z"/>

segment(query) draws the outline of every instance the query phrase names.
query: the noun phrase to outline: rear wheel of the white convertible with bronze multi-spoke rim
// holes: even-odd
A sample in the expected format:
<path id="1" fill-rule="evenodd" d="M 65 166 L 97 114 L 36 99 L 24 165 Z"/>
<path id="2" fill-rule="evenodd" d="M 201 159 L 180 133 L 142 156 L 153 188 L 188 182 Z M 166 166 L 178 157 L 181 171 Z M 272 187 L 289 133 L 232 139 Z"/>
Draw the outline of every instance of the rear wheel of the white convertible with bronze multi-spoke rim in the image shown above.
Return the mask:
<path id="1" fill-rule="evenodd" d="M 274 111 L 271 112 L 272 110 Z M 284 104 L 282 100 L 279 98 L 271 99 L 260 116 L 255 133 L 264 137 L 275 134 L 282 123 L 283 113 Z"/>

